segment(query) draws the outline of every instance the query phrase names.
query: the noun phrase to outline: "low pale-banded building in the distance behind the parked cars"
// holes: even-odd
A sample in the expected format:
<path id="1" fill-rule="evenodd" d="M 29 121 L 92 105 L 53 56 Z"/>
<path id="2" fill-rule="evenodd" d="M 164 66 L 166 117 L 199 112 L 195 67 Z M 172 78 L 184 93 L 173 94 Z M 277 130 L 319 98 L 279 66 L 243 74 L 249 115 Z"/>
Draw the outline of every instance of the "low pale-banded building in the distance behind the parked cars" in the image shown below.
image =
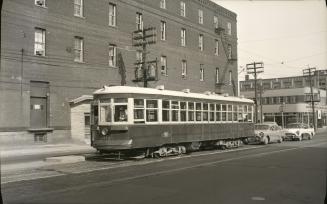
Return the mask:
<path id="1" fill-rule="evenodd" d="M 326 78 L 325 70 L 311 78 L 318 127 L 327 125 Z M 313 124 L 308 76 L 259 79 L 257 86 L 258 121 L 275 121 L 281 126 L 294 122 Z M 255 99 L 254 80 L 241 81 L 240 94 Z"/>

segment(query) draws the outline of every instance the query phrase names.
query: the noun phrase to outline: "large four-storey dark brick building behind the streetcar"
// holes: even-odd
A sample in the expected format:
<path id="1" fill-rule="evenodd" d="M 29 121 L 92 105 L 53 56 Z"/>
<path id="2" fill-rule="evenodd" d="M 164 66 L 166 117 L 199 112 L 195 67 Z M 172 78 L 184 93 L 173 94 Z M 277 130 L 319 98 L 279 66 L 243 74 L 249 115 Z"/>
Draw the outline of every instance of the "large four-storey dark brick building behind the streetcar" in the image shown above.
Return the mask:
<path id="1" fill-rule="evenodd" d="M 4 0 L 1 17 L 2 138 L 70 137 L 70 101 L 143 86 L 143 28 L 156 28 L 149 87 L 238 95 L 236 14 L 209 0 Z"/>

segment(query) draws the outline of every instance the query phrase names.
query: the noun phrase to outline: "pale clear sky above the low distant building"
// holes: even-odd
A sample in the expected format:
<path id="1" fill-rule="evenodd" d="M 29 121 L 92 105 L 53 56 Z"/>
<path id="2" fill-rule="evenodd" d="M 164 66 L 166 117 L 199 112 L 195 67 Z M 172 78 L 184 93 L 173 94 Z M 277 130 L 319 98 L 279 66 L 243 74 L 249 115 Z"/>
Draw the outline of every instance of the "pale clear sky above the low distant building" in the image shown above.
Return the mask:
<path id="1" fill-rule="evenodd" d="M 324 0 L 212 1 L 237 14 L 239 80 L 253 62 L 264 62 L 263 79 L 300 76 L 308 67 L 327 69 Z"/>

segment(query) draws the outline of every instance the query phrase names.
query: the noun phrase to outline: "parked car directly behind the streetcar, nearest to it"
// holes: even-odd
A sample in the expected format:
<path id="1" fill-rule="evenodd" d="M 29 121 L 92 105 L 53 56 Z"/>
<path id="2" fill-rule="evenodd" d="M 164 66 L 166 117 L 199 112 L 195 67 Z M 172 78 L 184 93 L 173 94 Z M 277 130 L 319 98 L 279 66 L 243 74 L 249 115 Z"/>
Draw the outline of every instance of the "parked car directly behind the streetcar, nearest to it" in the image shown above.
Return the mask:
<path id="1" fill-rule="evenodd" d="M 256 140 L 265 145 L 270 142 L 281 143 L 283 141 L 283 130 L 276 123 L 255 124 L 254 133 Z"/>

